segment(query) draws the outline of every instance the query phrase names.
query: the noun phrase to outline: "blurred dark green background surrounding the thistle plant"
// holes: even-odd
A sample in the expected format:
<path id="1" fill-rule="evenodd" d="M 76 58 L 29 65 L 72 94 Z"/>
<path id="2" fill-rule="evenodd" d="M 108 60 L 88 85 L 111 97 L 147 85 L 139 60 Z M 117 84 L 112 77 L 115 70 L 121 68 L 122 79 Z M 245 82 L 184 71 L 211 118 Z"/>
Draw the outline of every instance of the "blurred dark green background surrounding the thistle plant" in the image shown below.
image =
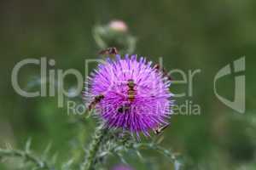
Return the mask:
<path id="1" fill-rule="evenodd" d="M 124 20 L 137 38 L 136 54 L 157 61 L 163 57 L 166 70 L 201 69 L 193 82 L 193 96 L 186 99 L 201 106 L 199 116 L 172 116 L 162 145 L 181 153 L 186 169 L 255 169 L 256 116 L 256 2 L 226 1 L 32 1 L 0 2 L 0 146 L 22 148 L 32 138 L 38 153 L 52 144 L 58 160 L 78 156 L 90 141 L 95 121 L 77 122 L 58 108 L 54 97 L 24 98 L 11 85 L 11 72 L 21 59 L 55 59 L 51 69 L 74 68 L 84 73 L 84 59 L 97 57 L 93 26 Z M 213 93 L 213 78 L 225 65 L 246 56 L 246 113 L 221 103 Z M 19 75 L 20 86 L 40 88 L 34 79 L 38 66 L 26 66 Z M 180 79 L 173 75 L 174 79 Z M 32 83 L 32 85 L 31 85 Z M 67 78 L 70 88 L 75 83 Z M 234 75 L 219 81 L 218 92 L 234 99 Z M 187 92 L 188 85 L 173 85 L 173 92 Z M 73 99 L 82 102 L 82 99 Z M 173 169 L 155 151 L 143 163 L 127 155 L 135 169 Z M 112 157 L 108 167 L 119 163 Z M 0 163 L 0 169 L 16 169 Z M 19 168 L 17 168 L 19 169 Z"/>

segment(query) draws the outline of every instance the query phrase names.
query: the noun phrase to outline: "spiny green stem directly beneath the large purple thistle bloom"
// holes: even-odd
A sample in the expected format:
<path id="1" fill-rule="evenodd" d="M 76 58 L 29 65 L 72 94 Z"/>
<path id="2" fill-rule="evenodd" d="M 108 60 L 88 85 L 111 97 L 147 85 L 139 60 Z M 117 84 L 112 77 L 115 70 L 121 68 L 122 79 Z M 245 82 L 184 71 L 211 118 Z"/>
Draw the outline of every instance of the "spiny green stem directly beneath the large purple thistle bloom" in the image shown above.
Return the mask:
<path id="1" fill-rule="evenodd" d="M 80 170 L 95 169 L 96 154 L 98 153 L 98 150 L 102 144 L 102 139 L 106 133 L 106 128 L 102 128 L 102 126 L 96 128 L 96 132 L 94 133 L 93 139 L 89 146 L 89 150 L 84 158 L 84 163 L 82 163 Z"/>

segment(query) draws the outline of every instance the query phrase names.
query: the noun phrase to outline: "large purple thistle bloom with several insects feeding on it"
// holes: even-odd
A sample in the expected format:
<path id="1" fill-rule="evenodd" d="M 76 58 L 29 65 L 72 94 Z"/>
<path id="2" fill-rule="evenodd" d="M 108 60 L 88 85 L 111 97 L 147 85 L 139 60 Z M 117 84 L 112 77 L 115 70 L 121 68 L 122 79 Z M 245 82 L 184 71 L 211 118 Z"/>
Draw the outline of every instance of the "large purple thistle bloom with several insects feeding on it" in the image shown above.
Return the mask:
<path id="1" fill-rule="evenodd" d="M 168 124 L 172 113 L 171 82 L 163 73 L 137 55 L 107 59 L 91 74 L 89 97 L 107 127 L 121 127 L 131 133 L 148 131 Z"/>

